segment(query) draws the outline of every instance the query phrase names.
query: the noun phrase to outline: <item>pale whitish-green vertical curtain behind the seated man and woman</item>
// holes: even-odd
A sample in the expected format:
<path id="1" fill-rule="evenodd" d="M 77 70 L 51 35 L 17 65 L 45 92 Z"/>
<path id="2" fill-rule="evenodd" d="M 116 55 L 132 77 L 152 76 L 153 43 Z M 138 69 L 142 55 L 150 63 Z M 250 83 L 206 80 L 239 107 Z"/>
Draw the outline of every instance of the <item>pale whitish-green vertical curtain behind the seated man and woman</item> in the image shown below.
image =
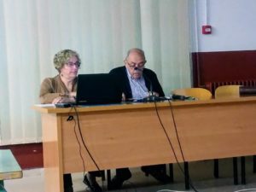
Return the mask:
<path id="1" fill-rule="evenodd" d="M 0 0 L 0 145 L 41 141 L 31 107 L 61 49 L 78 51 L 79 73 L 108 73 L 142 48 L 167 96 L 190 86 L 189 1 Z"/>

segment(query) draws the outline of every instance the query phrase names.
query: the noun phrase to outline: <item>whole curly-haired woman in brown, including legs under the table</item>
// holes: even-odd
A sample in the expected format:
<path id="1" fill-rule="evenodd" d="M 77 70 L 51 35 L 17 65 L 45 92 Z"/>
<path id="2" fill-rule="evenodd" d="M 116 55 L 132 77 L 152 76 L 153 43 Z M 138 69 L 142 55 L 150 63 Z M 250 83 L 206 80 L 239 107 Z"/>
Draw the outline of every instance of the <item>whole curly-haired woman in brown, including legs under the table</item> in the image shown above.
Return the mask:
<path id="1" fill-rule="evenodd" d="M 75 102 L 80 64 L 79 54 L 71 49 L 64 49 L 55 54 L 54 65 L 59 74 L 54 78 L 44 79 L 40 89 L 40 102 Z M 87 173 L 84 176 L 84 183 L 92 191 L 101 192 L 101 187 L 96 183 L 96 176 L 101 176 L 101 172 Z M 64 174 L 63 179 L 64 192 L 73 192 L 71 174 Z"/>

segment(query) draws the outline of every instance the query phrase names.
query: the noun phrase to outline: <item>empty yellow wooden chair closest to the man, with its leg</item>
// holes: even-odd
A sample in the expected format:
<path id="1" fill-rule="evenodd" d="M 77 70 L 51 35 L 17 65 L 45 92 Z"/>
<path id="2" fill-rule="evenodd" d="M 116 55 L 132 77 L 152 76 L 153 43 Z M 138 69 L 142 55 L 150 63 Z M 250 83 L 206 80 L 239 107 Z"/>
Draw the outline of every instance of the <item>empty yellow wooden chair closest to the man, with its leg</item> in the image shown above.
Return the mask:
<path id="1" fill-rule="evenodd" d="M 203 89 L 203 88 L 184 88 L 184 89 L 172 90 L 172 95 L 192 96 L 192 97 L 195 97 L 195 99 L 197 100 L 212 99 L 212 93 L 209 90 Z M 185 173 L 185 188 L 189 189 L 189 163 L 187 161 L 184 162 L 184 173 Z"/>

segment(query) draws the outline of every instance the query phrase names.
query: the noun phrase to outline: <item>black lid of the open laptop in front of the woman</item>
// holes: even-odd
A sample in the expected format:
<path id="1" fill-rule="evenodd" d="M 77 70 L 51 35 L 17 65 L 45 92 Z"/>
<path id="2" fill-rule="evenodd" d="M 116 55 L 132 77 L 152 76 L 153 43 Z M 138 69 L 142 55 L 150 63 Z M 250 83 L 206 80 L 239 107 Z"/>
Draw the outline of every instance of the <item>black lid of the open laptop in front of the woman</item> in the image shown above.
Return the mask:
<path id="1" fill-rule="evenodd" d="M 108 73 L 79 74 L 77 105 L 110 104 L 122 101 L 115 76 Z"/>

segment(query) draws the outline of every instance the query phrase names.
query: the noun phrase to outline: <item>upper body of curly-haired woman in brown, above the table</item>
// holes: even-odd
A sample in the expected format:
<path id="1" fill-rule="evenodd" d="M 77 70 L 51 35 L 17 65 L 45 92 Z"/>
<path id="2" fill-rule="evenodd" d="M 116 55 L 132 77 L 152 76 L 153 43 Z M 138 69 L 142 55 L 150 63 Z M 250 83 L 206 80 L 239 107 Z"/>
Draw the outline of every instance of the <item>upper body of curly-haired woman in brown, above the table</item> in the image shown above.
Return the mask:
<path id="1" fill-rule="evenodd" d="M 40 102 L 74 102 L 80 67 L 79 55 L 70 49 L 61 50 L 55 55 L 54 64 L 59 74 L 54 78 L 44 79 L 41 84 Z"/>

